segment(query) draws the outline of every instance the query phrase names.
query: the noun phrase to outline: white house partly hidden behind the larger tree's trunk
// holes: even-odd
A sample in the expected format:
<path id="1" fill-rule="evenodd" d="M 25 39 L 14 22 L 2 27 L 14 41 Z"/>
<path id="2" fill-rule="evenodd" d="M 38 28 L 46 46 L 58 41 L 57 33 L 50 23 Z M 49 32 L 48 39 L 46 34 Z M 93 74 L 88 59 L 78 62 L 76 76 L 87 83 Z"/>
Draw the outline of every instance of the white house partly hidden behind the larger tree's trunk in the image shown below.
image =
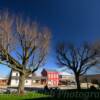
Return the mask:
<path id="1" fill-rule="evenodd" d="M 17 71 L 12 71 L 11 72 L 11 80 L 10 80 L 10 85 L 11 86 L 18 86 L 19 84 L 19 77 L 20 74 Z M 32 75 L 29 75 L 29 77 L 25 80 L 25 84 L 26 87 L 30 87 L 32 86 Z"/>

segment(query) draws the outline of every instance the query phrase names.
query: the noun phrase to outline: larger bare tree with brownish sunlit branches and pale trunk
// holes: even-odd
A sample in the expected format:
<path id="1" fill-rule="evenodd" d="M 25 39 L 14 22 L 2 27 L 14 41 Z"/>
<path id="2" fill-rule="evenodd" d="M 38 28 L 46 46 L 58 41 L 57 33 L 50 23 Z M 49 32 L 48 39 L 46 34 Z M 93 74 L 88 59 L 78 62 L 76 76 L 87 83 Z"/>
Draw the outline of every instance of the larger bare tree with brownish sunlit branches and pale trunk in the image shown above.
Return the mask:
<path id="1" fill-rule="evenodd" d="M 4 12 L 0 15 L 0 34 L 0 63 L 20 73 L 18 93 L 24 93 L 24 80 L 44 63 L 50 31 Z"/>

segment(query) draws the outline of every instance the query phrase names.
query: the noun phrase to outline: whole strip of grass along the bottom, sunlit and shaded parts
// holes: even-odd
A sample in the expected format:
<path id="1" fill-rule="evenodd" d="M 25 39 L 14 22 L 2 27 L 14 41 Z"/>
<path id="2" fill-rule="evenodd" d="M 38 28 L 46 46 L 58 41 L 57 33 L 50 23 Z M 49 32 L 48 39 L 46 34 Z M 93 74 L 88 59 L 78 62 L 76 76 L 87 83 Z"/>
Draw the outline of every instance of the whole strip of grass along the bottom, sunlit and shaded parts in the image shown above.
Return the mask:
<path id="1" fill-rule="evenodd" d="M 61 90 L 60 92 L 56 92 L 54 96 L 48 95 L 48 93 L 37 93 L 37 92 L 28 92 L 24 95 L 18 94 L 0 94 L 0 100 L 100 100 L 100 90 Z M 82 93 L 83 96 L 76 97 L 75 93 Z M 86 94 L 85 94 L 86 93 Z M 92 94 L 90 98 L 87 98 L 87 93 Z M 94 98 L 96 93 L 99 93 L 99 97 Z M 60 97 L 59 97 L 60 96 Z M 68 97 L 67 97 L 68 96 Z M 74 96 L 74 97 L 73 97 Z M 96 95 L 98 96 L 98 95 Z"/>

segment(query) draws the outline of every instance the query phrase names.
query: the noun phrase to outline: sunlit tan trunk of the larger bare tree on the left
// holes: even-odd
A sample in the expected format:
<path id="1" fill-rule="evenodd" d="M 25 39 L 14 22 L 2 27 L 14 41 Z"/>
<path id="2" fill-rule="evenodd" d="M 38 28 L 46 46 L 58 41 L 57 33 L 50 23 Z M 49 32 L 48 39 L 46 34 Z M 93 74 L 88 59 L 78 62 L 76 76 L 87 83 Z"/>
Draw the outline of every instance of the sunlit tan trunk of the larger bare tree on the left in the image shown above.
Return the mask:
<path id="1" fill-rule="evenodd" d="M 20 73 L 18 94 L 24 94 L 24 81 L 25 81 L 25 75 L 23 73 Z"/>

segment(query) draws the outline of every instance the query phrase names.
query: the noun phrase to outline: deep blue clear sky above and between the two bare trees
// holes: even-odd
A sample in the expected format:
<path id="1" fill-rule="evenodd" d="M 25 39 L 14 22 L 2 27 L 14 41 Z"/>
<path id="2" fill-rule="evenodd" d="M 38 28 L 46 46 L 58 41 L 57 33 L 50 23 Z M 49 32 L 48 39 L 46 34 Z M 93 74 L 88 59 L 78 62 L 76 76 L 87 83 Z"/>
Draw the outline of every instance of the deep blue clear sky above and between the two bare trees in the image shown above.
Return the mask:
<path id="1" fill-rule="evenodd" d="M 48 67 L 57 66 L 54 47 L 58 41 L 77 45 L 100 38 L 100 0 L 0 0 L 0 9 L 29 16 L 51 29 Z"/>

